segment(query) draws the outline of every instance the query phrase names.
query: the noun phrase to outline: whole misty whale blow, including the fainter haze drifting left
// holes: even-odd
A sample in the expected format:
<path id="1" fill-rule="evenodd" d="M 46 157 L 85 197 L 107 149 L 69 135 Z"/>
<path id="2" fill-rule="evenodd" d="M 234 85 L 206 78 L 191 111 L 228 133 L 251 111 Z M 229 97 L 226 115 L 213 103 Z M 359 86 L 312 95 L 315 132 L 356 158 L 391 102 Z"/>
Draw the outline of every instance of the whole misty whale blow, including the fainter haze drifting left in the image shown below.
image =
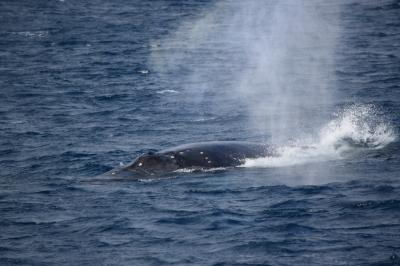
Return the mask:
<path id="1" fill-rule="evenodd" d="M 149 65 L 190 110 L 241 113 L 249 132 L 285 143 L 318 129 L 333 109 L 340 8 L 321 0 L 218 1 L 154 40 Z"/>

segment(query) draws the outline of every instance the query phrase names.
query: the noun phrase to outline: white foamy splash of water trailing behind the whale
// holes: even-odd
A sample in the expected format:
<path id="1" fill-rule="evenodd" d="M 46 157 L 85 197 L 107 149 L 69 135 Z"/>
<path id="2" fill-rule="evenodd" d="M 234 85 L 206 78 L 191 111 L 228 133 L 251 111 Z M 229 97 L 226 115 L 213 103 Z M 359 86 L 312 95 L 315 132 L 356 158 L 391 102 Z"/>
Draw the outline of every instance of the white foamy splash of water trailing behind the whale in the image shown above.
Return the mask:
<path id="1" fill-rule="evenodd" d="M 242 166 L 283 167 L 343 159 L 351 152 L 381 149 L 395 140 L 392 126 L 374 105 L 354 104 L 335 114 L 316 136 L 278 147 L 278 156 L 247 159 Z"/>

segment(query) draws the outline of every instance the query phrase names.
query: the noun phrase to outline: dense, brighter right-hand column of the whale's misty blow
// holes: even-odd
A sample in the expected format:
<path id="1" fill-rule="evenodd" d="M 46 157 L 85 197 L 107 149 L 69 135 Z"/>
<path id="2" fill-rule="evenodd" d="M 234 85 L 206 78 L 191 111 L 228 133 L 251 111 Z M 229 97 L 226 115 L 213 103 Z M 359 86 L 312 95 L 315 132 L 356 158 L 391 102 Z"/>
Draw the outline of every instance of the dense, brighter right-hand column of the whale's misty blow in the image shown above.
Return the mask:
<path id="1" fill-rule="evenodd" d="M 332 109 L 340 5 L 277 1 L 267 17 L 255 11 L 260 2 L 249 8 L 256 14 L 245 45 L 253 67 L 236 89 L 247 99 L 252 128 L 286 143 L 318 128 Z"/>

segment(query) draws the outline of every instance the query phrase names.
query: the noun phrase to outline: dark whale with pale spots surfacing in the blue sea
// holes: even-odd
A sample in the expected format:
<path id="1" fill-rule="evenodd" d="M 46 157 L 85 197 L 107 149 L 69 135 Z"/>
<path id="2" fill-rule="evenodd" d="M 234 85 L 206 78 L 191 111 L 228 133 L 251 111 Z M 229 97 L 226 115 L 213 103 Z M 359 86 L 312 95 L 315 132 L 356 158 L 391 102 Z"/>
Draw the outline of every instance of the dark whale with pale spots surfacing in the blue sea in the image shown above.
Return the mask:
<path id="1" fill-rule="evenodd" d="M 153 177 L 177 170 L 204 170 L 237 167 L 246 159 L 273 156 L 273 147 L 245 141 L 210 141 L 179 145 L 160 151 L 150 151 L 128 165 L 105 173 L 117 177 Z"/>

